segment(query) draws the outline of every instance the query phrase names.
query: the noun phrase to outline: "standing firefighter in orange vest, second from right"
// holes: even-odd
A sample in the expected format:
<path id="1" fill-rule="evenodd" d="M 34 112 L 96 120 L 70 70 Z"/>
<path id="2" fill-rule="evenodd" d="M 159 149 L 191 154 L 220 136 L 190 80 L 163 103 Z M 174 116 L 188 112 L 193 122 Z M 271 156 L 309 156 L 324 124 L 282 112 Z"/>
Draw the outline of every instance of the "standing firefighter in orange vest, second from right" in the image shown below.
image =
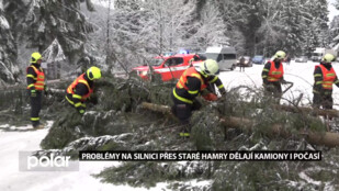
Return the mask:
<path id="1" fill-rule="evenodd" d="M 281 83 L 286 82 L 284 80 L 284 68 L 282 65 L 285 56 L 286 54 L 282 50 L 276 52 L 273 60 L 269 60 L 261 72 L 265 94 L 273 96 L 279 100 L 282 96 Z"/>

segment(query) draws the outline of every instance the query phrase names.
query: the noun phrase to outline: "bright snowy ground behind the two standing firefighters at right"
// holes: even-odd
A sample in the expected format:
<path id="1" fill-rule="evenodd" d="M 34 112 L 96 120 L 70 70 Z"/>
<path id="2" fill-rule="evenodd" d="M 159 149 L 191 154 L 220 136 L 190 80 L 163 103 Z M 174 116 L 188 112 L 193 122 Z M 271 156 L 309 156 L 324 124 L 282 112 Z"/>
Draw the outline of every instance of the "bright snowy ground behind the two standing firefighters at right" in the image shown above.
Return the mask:
<path id="1" fill-rule="evenodd" d="M 292 60 L 290 65 L 284 64 L 284 79 L 294 83 L 291 90 L 283 96 L 284 99 L 293 100 L 303 93 L 302 104 L 304 106 L 310 106 L 314 83 L 313 72 L 316 65 L 318 64 L 313 61 L 295 63 L 294 60 Z M 332 66 L 337 75 L 339 75 L 339 64 L 334 63 Z M 234 71 L 221 72 L 219 78 L 227 90 L 238 86 L 262 88 L 262 68 L 263 65 L 253 65 L 253 67 L 245 68 L 245 72 L 240 72 L 239 68 L 236 68 Z M 286 88 L 286 86 L 283 86 L 283 90 L 284 88 Z M 339 109 L 339 89 L 336 86 L 334 86 L 334 108 Z M 281 103 L 287 104 L 287 101 L 282 101 Z"/>

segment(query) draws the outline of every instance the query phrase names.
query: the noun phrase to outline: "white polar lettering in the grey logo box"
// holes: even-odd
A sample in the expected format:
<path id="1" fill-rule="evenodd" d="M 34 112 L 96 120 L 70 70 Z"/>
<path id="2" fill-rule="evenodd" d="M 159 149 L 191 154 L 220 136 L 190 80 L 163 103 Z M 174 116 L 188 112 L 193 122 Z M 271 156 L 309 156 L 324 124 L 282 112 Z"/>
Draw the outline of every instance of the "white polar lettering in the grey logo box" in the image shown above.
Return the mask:
<path id="1" fill-rule="evenodd" d="M 27 169 L 31 170 L 35 167 L 68 167 L 69 166 L 70 156 L 57 156 L 55 157 L 53 154 L 50 157 L 43 156 L 37 158 L 36 156 L 27 157 Z"/>

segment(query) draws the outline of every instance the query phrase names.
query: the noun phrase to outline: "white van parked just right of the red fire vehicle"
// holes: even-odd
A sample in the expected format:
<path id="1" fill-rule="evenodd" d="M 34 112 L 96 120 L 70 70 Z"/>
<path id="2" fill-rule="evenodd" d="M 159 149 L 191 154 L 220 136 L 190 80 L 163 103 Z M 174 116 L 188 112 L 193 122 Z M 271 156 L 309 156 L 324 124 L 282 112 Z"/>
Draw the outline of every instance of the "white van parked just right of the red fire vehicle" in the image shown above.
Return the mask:
<path id="1" fill-rule="evenodd" d="M 210 46 L 206 49 L 206 57 L 216 60 L 221 70 L 234 70 L 237 66 L 236 48 L 231 46 Z"/>

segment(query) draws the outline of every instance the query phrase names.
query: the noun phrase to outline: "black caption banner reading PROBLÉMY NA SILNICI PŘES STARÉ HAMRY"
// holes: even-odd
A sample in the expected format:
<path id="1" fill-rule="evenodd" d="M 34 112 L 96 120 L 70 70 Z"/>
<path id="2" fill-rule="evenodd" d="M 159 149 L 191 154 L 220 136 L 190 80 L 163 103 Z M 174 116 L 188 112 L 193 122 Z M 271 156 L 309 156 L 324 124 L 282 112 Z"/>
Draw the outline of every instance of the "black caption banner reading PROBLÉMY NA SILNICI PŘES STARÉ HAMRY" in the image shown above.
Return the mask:
<path id="1" fill-rule="evenodd" d="M 140 160 L 321 160 L 321 151 L 79 151 L 79 160 L 112 160 L 112 161 L 140 161 Z"/>

